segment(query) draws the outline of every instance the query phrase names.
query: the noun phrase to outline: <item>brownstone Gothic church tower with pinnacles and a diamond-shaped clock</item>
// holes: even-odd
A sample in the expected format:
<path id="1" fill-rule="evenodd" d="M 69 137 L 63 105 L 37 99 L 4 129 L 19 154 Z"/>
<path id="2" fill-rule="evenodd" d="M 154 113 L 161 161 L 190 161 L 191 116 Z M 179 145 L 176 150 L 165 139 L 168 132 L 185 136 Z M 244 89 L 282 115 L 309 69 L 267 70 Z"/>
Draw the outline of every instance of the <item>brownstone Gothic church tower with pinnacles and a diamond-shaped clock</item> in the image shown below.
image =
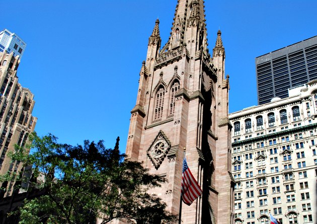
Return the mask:
<path id="1" fill-rule="evenodd" d="M 162 49 L 159 23 L 141 66 L 127 157 L 168 179 L 153 193 L 173 213 L 181 210 L 181 223 L 233 223 L 229 77 L 224 77 L 221 32 L 211 57 L 203 0 L 178 0 L 171 36 Z M 203 194 L 180 209 L 184 147 Z"/>

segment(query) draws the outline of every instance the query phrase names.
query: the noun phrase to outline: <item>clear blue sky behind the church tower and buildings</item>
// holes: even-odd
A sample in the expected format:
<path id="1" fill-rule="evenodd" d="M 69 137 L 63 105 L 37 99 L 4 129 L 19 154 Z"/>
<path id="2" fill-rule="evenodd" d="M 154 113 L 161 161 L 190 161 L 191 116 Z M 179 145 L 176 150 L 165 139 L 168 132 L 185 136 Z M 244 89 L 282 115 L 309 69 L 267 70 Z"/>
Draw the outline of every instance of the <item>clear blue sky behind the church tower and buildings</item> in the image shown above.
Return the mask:
<path id="1" fill-rule="evenodd" d="M 125 151 L 130 110 L 148 37 L 160 19 L 162 45 L 177 0 L 11 1 L 0 29 L 26 43 L 18 77 L 35 95 L 39 135 L 60 142 L 120 136 Z M 229 111 L 257 105 L 255 57 L 317 35 L 317 1 L 205 1 L 209 50 L 218 28 L 230 76 Z"/>

